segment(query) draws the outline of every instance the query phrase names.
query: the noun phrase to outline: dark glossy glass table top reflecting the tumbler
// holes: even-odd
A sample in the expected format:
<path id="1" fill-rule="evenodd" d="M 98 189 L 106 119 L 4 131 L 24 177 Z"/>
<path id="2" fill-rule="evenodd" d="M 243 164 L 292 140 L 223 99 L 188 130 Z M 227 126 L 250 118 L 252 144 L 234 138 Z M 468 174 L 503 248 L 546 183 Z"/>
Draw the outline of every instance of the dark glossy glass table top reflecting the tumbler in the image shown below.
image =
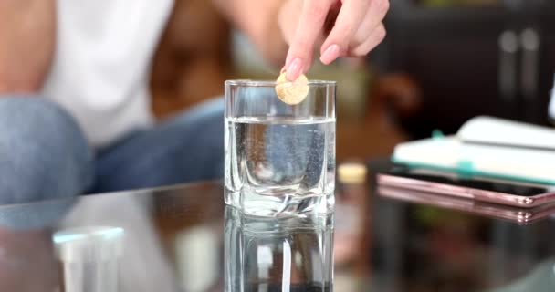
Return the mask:
<path id="1" fill-rule="evenodd" d="M 0 291 L 548 291 L 555 284 L 550 211 L 533 217 L 384 195 L 373 179 L 388 166 L 368 165 L 368 181 L 338 183 L 335 213 L 317 217 L 245 217 L 225 208 L 219 182 L 1 206 Z M 264 276 L 282 281 L 261 285 Z"/>

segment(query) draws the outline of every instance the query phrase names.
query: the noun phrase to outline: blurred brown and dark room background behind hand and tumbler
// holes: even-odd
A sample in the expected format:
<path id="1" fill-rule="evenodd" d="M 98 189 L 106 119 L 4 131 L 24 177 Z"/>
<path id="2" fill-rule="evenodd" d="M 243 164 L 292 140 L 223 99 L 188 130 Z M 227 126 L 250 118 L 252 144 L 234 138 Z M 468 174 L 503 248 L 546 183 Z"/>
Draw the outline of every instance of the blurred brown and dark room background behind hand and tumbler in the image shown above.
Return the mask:
<path id="1" fill-rule="evenodd" d="M 315 62 L 308 74 L 339 83 L 340 161 L 387 155 L 396 143 L 435 129 L 456 132 L 477 115 L 549 124 L 555 1 L 391 0 L 391 6 L 388 36 L 371 56 L 325 68 Z M 210 1 L 177 1 L 152 70 L 153 110 L 163 119 L 222 95 L 225 79 L 277 76 L 278 68 L 265 64 Z"/>

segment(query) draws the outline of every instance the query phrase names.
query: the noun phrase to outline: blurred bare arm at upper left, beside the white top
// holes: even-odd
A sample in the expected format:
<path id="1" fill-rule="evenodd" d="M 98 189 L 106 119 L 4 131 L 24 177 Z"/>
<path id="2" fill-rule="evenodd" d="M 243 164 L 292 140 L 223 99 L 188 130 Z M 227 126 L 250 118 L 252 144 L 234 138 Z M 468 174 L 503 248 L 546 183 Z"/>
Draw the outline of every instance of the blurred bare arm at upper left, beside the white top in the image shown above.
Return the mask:
<path id="1" fill-rule="evenodd" d="M 42 87 L 55 29 L 55 0 L 0 0 L 0 94 Z"/>

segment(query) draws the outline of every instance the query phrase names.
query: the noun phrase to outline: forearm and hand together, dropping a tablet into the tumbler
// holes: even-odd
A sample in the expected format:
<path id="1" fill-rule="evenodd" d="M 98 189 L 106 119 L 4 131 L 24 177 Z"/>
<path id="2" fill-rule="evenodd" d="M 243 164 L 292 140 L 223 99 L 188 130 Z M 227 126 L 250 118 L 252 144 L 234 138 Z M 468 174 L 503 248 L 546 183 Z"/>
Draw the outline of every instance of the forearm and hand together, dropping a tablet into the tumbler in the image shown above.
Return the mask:
<path id="1" fill-rule="evenodd" d="M 283 62 L 290 46 L 283 68 L 289 80 L 309 70 L 317 47 L 326 65 L 368 54 L 385 37 L 389 9 L 389 0 L 214 1 L 270 60 Z"/>

